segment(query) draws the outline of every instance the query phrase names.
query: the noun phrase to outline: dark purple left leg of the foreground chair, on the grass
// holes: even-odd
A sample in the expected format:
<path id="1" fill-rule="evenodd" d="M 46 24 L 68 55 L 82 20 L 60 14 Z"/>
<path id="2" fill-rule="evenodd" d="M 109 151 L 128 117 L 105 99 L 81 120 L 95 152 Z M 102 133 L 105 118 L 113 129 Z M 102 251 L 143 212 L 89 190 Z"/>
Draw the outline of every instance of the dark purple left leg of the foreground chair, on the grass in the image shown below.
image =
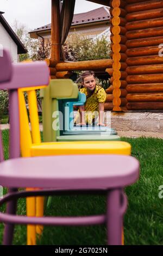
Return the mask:
<path id="1" fill-rule="evenodd" d="M 16 192 L 17 189 L 10 189 L 9 193 Z M 7 213 L 15 215 L 17 209 L 17 200 L 13 200 L 7 204 Z M 5 224 L 4 235 L 3 235 L 3 245 L 12 245 L 12 240 L 14 237 L 14 224 Z"/>

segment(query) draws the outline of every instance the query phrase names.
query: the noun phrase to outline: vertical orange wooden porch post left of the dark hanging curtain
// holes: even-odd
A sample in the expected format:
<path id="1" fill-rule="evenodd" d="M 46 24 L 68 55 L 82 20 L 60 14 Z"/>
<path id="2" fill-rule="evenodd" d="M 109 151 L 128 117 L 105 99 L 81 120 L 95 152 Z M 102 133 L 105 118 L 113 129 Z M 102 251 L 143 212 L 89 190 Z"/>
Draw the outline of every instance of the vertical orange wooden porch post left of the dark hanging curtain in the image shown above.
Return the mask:
<path id="1" fill-rule="evenodd" d="M 60 60 L 60 1 L 52 0 L 51 58 Z"/>

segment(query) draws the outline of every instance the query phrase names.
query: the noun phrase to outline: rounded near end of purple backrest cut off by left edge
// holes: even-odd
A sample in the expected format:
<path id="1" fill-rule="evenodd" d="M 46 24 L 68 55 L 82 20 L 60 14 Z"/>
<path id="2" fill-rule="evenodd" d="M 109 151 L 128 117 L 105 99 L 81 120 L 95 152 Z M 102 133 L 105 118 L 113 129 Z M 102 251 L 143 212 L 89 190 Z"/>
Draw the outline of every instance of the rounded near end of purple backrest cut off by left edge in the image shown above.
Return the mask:
<path id="1" fill-rule="evenodd" d="M 0 49 L 0 84 L 9 82 L 12 76 L 12 64 L 10 54 L 7 50 Z"/>

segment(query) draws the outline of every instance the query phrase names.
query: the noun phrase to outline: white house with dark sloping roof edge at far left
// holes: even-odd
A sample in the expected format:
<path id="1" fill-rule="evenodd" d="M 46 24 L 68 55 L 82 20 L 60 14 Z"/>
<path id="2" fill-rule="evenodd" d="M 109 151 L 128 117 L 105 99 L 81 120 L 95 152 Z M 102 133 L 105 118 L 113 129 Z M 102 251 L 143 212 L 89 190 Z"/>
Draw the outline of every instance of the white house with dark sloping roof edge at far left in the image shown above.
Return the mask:
<path id="1" fill-rule="evenodd" d="M 18 54 L 26 53 L 27 50 L 2 14 L 4 13 L 0 11 L 0 48 L 8 49 L 12 61 L 18 62 Z"/>

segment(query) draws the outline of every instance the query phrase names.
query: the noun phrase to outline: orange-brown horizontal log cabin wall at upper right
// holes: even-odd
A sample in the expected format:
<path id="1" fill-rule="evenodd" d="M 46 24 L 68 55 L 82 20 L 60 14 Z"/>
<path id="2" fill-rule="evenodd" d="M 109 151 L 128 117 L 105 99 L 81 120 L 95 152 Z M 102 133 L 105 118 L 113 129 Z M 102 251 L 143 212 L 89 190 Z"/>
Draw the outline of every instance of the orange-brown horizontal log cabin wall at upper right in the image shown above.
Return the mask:
<path id="1" fill-rule="evenodd" d="M 163 109 L 163 1 L 126 0 L 127 109 Z"/>

